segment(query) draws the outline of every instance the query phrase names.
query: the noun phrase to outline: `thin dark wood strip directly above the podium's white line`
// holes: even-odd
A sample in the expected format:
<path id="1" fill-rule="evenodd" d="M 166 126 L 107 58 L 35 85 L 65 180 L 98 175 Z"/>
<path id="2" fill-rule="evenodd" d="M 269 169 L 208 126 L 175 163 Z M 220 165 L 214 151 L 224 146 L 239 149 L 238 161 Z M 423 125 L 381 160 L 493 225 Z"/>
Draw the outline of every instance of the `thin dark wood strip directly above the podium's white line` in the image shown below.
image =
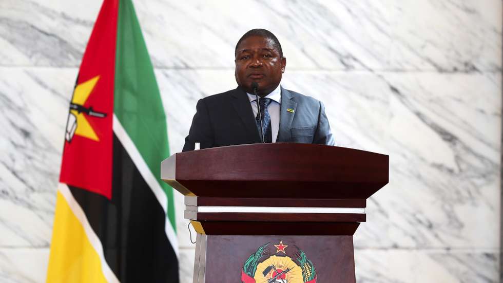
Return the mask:
<path id="1" fill-rule="evenodd" d="M 192 206 L 366 207 L 365 199 L 223 198 L 185 196 Z"/>

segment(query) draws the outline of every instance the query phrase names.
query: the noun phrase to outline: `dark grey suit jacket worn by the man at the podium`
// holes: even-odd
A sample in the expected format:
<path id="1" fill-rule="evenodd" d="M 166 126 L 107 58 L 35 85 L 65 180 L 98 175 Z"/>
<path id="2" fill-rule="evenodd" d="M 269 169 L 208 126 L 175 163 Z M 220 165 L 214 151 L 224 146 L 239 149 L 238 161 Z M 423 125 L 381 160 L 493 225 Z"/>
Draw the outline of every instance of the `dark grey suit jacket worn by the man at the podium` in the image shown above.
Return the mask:
<path id="1" fill-rule="evenodd" d="M 293 109 L 287 111 L 287 109 Z M 200 99 L 183 151 L 260 143 L 260 133 L 246 92 L 238 87 Z M 323 104 L 295 91 L 281 88 L 279 131 L 276 142 L 334 145 Z"/>

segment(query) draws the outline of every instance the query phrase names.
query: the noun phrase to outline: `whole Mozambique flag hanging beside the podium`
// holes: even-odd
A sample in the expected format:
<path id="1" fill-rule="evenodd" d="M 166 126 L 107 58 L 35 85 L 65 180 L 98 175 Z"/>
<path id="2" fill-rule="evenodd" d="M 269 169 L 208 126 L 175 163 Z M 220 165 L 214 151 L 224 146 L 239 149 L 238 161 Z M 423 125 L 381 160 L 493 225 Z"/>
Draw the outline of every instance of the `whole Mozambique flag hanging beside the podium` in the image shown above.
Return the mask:
<path id="1" fill-rule="evenodd" d="M 178 282 L 166 116 L 131 0 L 105 0 L 65 133 L 47 282 Z"/>

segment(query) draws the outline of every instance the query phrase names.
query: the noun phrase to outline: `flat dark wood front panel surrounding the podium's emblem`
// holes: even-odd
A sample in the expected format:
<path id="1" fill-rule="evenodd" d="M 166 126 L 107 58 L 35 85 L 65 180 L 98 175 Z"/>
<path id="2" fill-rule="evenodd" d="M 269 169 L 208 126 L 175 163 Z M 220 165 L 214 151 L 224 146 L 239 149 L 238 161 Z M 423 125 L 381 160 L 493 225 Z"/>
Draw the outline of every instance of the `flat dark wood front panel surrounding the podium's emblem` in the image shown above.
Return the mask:
<path id="1" fill-rule="evenodd" d="M 284 252 L 275 245 L 282 243 Z M 206 240 L 206 274 L 204 283 L 241 282 L 244 262 L 260 247 L 263 252 L 258 258 L 259 265 L 254 269 L 258 278 L 267 279 L 264 268 L 267 262 L 276 262 L 275 268 L 281 268 L 281 262 L 289 262 L 297 266 L 285 274 L 293 278 L 302 278 L 299 254 L 302 252 L 312 271 L 316 274 L 316 282 L 354 283 L 355 262 L 352 236 L 222 236 L 209 235 Z M 282 260 L 279 260 L 281 259 Z M 211 259 L 211 260 L 210 260 Z M 262 263 L 262 264 L 260 264 Z M 284 268 L 284 267 L 283 267 Z M 258 273 L 257 273 L 258 272 Z M 297 273 L 295 273 L 297 272 Z M 262 280 L 263 281 L 263 280 Z M 203 283 L 199 281 L 199 283 Z"/>

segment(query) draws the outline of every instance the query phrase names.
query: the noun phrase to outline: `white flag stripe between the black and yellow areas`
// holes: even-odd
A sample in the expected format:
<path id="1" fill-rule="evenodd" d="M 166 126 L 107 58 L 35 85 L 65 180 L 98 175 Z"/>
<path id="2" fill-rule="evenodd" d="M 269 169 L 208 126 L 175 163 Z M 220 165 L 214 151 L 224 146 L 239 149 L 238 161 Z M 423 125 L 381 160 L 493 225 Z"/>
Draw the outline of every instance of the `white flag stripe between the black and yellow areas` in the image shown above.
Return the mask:
<path id="1" fill-rule="evenodd" d="M 117 279 L 115 273 L 113 273 L 113 271 L 108 266 L 107 261 L 105 260 L 105 254 L 103 253 L 103 246 L 101 244 L 100 238 L 98 238 L 98 235 L 96 235 L 96 233 L 94 233 L 94 230 L 92 230 L 91 224 L 89 224 L 89 220 L 87 220 L 86 214 L 82 210 L 82 207 L 75 200 L 72 193 L 70 192 L 70 189 L 66 184 L 59 183 L 57 185 L 57 189 L 65 198 L 66 203 L 68 203 L 68 206 L 70 207 L 70 210 L 73 212 L 75 217 L 79 219 L 79 222 L 84 228 L 87 239 L 91 243 L 91 246 L 94 248 L 96 253 L 98 253 L 98 256 L 100 257 L 101 261 L 101 270 L 103 271 L 105 279 L 107 279 L 107 281 L 111 283 L 115 282 L 119 283 L 120 282 L 119 279 Z"/>

